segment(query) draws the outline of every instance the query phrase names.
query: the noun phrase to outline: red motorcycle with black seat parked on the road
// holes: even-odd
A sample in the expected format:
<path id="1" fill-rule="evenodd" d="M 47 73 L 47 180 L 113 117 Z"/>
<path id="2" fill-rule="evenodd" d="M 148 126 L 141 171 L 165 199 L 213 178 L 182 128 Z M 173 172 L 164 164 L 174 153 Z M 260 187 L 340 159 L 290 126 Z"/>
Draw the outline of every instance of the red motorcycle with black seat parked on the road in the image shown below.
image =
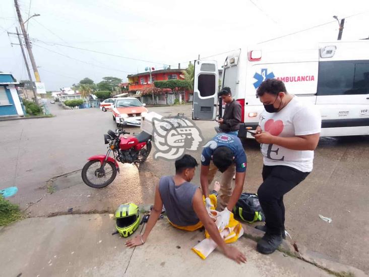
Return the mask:
<path id="1" fill-rule="evenodd" d="M 108 144 L 106 155 L 95 155 L 88 158 L 82 169 L 82 180 L 92 188 L 103 188 L 111 184 L 119 173 L 117 161 L 134 163 L 136 166 L 144 162 L 151 151 L 151 135 L 141 132 L 136 136 L 125 130 L 109 130 L 104 135 L 105 144 Z M 109 156 L 113 152 L 113 157 Z"/>

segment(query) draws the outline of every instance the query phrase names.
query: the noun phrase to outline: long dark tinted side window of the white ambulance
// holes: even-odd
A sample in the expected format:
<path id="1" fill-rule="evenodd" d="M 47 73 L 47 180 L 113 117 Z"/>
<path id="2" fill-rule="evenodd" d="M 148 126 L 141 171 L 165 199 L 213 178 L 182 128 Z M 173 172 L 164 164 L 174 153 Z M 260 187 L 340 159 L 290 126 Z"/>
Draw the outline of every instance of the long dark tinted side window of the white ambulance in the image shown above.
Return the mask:
<path id="1" fill-rule="evenodd" d="M 369 93 L 369 61 L 319 63 L 318 95 Z"/>

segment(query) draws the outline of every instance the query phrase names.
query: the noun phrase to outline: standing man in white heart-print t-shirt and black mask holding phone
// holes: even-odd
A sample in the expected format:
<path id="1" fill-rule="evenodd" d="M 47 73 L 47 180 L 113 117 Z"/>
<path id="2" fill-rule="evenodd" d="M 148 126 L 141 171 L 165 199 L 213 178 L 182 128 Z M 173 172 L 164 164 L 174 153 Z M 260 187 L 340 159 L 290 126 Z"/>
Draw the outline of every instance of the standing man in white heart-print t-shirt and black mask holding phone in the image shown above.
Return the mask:
<path id="1" fill-rule="evenodd" d="M 283 82 L 267 79 L 257 95 L 264 104 L 255 138 L 264 156 L 263 183 L 258 196 L 265 214 L 265 231 L 257 249 L 273 253 L 284 235 L 283 195 L 313 170 L 314 150 L 321 131 L 321 115 L 315 105 L 289 94 Z"/>

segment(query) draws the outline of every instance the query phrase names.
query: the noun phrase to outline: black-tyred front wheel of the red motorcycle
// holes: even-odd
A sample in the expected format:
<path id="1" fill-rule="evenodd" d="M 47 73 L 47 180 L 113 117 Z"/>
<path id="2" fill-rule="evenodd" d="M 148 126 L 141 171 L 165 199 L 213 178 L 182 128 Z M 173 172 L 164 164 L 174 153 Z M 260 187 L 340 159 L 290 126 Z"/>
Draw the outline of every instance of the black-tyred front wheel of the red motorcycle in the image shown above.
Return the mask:
<path id="1" fill-rule="evenodd" d="M 116 177 L 116 167 L 111 161 L 107 161 L 103 169 L 100 169 L 100 160 L 88 161 L 82 169 L 82 180 L 91 188 L 101 189 L 110 185 Z"/>

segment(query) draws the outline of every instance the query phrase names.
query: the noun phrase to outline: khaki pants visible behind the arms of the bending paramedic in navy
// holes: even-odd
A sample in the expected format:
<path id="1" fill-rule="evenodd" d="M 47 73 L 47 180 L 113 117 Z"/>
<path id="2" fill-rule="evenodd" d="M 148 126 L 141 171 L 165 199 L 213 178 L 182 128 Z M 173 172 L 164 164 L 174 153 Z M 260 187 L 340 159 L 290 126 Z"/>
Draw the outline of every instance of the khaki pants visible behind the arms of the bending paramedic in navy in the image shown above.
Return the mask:
<path id="1" fill-rule="evenodd" d="M 213 161 L 210 161 L 209 173 L 208 173 L 208 185 L 213 182 L 214 176 L 217 173 L 218 168 L 214 165 Z M 220 181 L 220 193 L 219 193 L 219 203 L 217 210 L 224 210 L 228 205 L 229 198 L 232 195 L 232 180 L 234 173 L 236 172 L 236 167 L 234 164 L 222 173 L 222 179 Z"/>

